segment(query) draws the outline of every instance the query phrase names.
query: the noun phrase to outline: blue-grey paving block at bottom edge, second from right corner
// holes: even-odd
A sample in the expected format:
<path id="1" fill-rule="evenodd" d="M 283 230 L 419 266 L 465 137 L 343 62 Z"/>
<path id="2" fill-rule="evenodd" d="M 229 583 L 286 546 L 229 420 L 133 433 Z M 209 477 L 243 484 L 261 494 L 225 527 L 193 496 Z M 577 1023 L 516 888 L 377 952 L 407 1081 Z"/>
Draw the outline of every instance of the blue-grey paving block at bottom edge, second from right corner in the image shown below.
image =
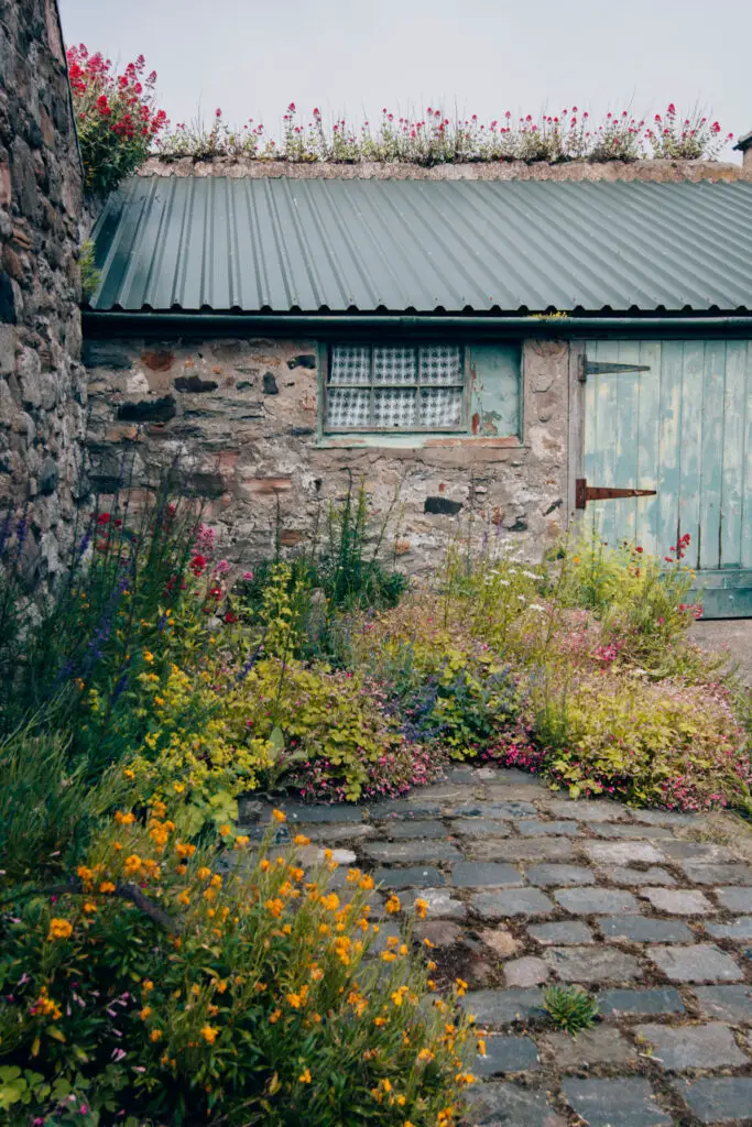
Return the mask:
<path id="1" fill-rule="evenodd" d="M 563 1088 L 567 1103 L 589 1127 L 671 1127 L 671 1116 L 640 1076 L 565 1080 Z"/>

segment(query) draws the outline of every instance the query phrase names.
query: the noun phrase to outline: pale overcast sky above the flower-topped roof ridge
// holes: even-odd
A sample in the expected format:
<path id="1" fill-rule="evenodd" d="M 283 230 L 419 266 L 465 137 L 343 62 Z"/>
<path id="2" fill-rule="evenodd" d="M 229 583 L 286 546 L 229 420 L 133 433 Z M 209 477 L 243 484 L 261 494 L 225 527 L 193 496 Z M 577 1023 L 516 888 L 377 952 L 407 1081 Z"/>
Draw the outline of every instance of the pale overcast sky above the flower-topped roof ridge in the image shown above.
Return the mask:
<path id="1" fill-rule="evenodd" d="M 752 130 L 752 5 L 743 0 L 59 0 L 67 43 L 145 55 L 175 124 L 219 107 L 278 135 L 306 117 L 377 122 L 387 106 L 481 121 L 574 105 L 591 119 L 697 104 Z M 738 153 L 726 150 L 727 159 Z"/>

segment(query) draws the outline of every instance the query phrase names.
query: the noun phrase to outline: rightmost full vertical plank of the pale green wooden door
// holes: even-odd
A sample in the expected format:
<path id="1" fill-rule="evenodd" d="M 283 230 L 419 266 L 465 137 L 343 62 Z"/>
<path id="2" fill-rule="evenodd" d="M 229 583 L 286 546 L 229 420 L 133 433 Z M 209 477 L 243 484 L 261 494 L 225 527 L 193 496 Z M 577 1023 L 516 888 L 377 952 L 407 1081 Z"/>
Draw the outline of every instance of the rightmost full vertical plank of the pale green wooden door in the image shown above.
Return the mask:
<path id="1" fill-rule="evenodd" d="M 720 480 L 720 566 L 742 562 L 742 490 L 744 487 L 744 399 L 746 340 L 726 341 L 724 444 Z"/>

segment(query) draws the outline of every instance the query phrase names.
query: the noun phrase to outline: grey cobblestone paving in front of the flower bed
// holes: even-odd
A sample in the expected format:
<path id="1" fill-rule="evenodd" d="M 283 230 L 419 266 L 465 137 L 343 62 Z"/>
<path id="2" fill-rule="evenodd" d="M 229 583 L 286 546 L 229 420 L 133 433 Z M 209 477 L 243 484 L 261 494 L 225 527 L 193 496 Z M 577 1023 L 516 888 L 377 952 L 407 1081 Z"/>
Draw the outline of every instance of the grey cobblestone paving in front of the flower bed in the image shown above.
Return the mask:
<path id="1" fill-rule="evenodd" d="M 474 1124 L 752 1125 L 752 866 L 697 840 L 701 816 L 570 801 L 469 766 L 396 801 L 280 805 L 310 862 L 329 846 L 404 906 L 428 902 L 419 933 L 487 1030 Z M 269 815 L 246 804 L 256 834 Z M 576 1039 L 541 1009 L 552 983 L 599 997 Z"/>

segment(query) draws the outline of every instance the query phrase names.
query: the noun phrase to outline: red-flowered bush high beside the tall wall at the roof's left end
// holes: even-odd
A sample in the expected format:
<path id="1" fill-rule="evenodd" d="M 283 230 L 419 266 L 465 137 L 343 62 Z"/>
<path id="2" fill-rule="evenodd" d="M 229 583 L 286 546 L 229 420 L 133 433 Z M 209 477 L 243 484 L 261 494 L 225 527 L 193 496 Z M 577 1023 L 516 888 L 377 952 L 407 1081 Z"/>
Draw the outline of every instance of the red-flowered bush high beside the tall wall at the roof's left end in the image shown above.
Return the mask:
<path id="1" fill-rule="evenodd" d="M 68 51 L 85 184 L 92 193 L 112 192 L 131 176 L 167 125 L 165 110 L 154 106 L 157 74 L 144 78 L 144 69 L 143 55 L 117 74 L 109 59 L 89 54 L 83 44 Z"/>

